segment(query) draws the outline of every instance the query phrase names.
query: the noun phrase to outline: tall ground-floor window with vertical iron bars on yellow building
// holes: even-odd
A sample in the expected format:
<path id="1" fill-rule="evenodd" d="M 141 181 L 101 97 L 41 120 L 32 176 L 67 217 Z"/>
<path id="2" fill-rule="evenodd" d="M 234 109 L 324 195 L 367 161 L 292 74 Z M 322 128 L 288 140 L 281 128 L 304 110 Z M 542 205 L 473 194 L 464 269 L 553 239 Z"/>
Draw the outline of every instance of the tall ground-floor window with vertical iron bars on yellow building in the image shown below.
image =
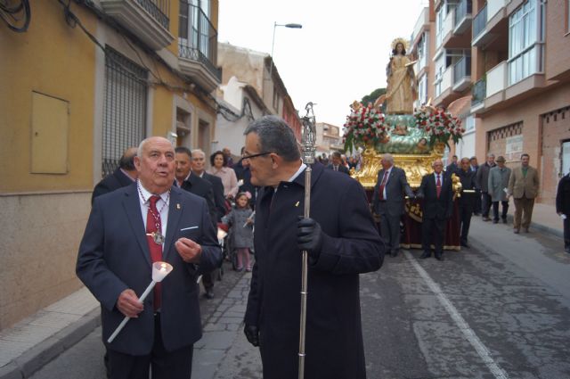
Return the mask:
<path id="1" fill-rule="evenodd" d="M 102 175 L 118 168 L 126 148 L 146 136 L 147 71 L 109 46 L 105 49 Z"/>

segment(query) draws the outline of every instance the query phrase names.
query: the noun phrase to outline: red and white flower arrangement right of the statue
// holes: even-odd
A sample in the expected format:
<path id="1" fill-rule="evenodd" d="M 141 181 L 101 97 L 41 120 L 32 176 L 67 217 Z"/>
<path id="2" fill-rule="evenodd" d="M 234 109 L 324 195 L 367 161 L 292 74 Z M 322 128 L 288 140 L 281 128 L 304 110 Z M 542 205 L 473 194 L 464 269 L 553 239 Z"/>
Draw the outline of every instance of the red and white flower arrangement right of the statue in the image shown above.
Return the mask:
<path id="1" fill-rule="evenodd" d="M 461 128 L 461 120 L 443 109 L 424 106 L 415 111 L 413 116 L 416 119 L 416 128 L 423 129 L 429 138 L 430 146 L 444 143 L 449 147 L 450 139 L 457 144 L 465 133 L 465 129 Z"/>

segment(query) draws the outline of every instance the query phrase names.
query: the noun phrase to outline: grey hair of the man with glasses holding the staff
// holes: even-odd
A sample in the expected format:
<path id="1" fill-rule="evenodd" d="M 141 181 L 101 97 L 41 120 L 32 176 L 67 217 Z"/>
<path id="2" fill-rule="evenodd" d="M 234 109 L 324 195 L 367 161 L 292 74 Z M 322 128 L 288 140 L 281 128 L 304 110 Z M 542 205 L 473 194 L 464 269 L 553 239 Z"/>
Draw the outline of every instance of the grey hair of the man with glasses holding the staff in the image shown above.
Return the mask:
<path id="1" fill-rule="evenodd" d="M 256 119 L 243 132 L 244 136 L 255 133 L 259 137 L 261 152 L 274 152 L 284 161 L 298 161 L 301 153 L 297 138 L 289 125 L 277 116 L 264 116 Z"/>

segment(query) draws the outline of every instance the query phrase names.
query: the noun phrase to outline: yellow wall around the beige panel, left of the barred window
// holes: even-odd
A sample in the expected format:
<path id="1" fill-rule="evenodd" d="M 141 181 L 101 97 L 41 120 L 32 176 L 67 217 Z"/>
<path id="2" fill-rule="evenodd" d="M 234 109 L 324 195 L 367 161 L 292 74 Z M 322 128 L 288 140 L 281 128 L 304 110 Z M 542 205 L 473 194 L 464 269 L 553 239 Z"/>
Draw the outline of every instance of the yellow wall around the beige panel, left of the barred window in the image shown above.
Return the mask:
<path id="1" fill-rule="evenodd" d="M 27 32 L 0 30 L 0 194 L 92 188 L 95 45 L 65 23 L 61 4 L 31 6 L 36 17 Z M 72 9 L 95 28 L 90 12 Z M 30 173 L 33 91 L 69 102 L 65 174 Z"/>

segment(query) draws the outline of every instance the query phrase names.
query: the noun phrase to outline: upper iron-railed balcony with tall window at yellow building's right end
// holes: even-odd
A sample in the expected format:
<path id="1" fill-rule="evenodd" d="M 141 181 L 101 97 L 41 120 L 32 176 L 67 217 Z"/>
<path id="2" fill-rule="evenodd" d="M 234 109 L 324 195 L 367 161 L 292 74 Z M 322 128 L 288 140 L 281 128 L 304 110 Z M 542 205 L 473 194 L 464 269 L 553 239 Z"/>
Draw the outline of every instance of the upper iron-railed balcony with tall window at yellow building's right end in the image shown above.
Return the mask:
<path id="1" fill-rule="evenodd" d="M 222 70 L 216 67 L 217 31 L 198 5 L 180 2 L 178 54 L 181 58 L 202 63 L 218 81 Z"/>

